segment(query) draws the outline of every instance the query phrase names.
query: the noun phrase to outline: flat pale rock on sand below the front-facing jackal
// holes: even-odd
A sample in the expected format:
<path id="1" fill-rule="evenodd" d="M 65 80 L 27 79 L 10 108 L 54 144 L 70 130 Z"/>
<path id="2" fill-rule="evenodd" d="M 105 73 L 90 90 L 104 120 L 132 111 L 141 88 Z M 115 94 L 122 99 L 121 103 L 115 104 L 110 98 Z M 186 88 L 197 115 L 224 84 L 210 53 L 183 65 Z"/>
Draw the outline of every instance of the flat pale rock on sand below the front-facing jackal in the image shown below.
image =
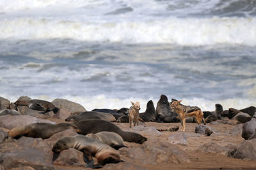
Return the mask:
<path id="1" fill-rule="evenodd" d="M 149 136 L 160 136 L 162 133 L 157 131 L 156 127 L 143 127 L 142 125 L 134 126 L 130 131 L 140 133 L 141 135 L 149 135 Z"/>

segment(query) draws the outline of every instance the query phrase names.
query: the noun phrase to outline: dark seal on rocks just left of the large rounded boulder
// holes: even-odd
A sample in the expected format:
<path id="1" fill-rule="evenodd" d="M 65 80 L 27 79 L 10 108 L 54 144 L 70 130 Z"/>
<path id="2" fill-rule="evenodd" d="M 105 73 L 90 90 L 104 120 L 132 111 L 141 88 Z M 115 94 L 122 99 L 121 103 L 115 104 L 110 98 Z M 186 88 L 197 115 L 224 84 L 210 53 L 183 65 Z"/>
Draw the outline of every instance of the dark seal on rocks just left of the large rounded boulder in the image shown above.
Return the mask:
<path id="1" fill-rule="evenodd" d="M 57 113 L 60 110 L 60 108 L 55 107 L 51 102 L 38 99 L 18 99 L 14 104 L 16 107 L 28 106 L 33 110 L 44 111 L 44 113 L 47 113 L 48 111 Z"/>

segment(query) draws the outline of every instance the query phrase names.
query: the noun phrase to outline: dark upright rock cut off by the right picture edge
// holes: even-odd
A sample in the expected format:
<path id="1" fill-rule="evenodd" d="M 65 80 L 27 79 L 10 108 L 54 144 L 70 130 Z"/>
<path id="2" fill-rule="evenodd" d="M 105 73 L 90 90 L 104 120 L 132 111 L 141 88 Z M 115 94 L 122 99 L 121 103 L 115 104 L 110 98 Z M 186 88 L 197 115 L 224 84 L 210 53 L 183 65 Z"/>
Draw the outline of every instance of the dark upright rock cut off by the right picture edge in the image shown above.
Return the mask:
<path id="1" fill-rule="evenodd" d="M 256 113 L 253 118 L 243 125 L 242 137 L 244 139 L 256 138 Z"/>

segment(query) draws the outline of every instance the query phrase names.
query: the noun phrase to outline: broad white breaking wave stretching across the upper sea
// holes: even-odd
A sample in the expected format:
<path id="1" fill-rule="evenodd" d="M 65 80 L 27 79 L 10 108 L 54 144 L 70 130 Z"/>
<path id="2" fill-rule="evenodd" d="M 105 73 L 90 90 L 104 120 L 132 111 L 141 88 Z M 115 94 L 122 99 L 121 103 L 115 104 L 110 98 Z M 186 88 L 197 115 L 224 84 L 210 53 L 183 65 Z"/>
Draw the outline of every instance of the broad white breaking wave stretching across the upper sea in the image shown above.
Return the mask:
<path id="1" fill-rule="evenodd" d="M 256 18 L 168 18 L 148 21 L 79 22 L 14 18 L 0 25 L 1 39 L 76 39 L 177 45 L 256 45 Z"/>

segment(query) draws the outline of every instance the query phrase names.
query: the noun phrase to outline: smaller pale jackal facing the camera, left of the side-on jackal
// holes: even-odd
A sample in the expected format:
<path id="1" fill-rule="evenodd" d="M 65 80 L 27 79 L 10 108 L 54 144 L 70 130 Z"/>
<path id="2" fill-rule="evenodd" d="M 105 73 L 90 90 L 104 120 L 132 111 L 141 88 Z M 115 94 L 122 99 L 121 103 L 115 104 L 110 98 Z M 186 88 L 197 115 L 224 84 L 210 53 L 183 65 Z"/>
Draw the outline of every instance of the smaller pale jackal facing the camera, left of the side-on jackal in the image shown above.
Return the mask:
<path id="1" fill-rule="evenodd" d="M 135 126 L 136 124 L 139 125 L 139 110 L 140 110 L 140 103 L 137 101 L 136 103 L 132 103 L 132 106 L 129 109 L 129 125 L 130 128 L 132 127 L 132 123 L 133 126 Z"/>

